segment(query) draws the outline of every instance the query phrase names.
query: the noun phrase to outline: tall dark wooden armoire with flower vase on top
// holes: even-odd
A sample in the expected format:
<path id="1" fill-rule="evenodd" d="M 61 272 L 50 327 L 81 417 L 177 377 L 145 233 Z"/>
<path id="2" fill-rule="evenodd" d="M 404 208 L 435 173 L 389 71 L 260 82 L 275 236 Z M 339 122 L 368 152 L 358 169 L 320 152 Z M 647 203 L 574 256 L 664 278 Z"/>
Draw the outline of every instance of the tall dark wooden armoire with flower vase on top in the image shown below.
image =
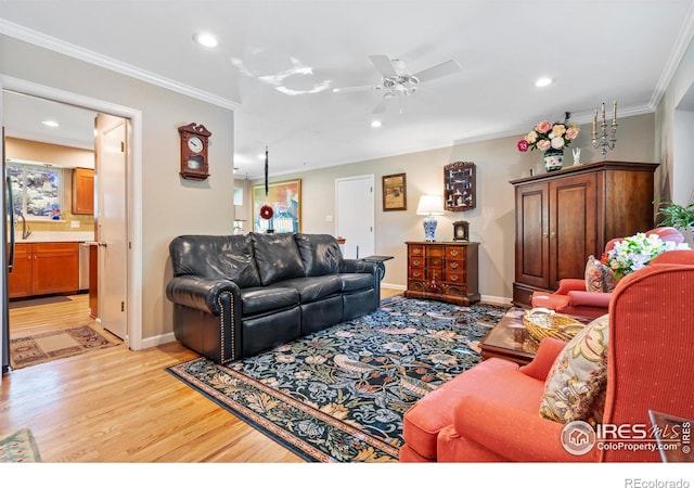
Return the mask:
<path id="1" fill-rule="evenodd" d="M 513 303 L 583 278 L 588 256 L 654 227 L 652 163 L 601 160 L 511 181 L 515 189 Z"/>

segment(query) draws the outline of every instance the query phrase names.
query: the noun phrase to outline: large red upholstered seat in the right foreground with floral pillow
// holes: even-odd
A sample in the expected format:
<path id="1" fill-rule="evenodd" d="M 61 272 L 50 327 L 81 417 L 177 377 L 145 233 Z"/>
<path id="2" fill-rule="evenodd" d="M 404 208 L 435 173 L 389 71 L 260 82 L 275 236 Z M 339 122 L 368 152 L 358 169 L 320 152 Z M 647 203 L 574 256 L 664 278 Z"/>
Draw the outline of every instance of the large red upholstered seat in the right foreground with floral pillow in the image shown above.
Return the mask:
<path id="1" fill-rule="evenodd" d="M 404 414 L 400 461 L 659 462 L 657 451 L 568 453 L 564 424 L 539 415 L 565 343 L 545 338 L 525 367 L 478 363 Z M 650 426 L 648 410 L 694 419 L 694 251 L 661 254 L 619 281 L 609 304 L 603 423 Z"/>

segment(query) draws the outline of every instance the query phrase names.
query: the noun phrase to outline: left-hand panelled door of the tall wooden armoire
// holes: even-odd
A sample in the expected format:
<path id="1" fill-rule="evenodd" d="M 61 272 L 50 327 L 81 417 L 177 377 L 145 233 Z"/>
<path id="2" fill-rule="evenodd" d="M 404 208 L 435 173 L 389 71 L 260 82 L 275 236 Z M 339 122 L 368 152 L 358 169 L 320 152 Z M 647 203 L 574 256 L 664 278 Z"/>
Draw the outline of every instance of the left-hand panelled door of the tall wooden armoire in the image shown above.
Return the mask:
<path id="1" fill-rule="evenodd" d="M 516 281 L 547 288 L 549 278 L 547 183 L 516 187 Z"/>

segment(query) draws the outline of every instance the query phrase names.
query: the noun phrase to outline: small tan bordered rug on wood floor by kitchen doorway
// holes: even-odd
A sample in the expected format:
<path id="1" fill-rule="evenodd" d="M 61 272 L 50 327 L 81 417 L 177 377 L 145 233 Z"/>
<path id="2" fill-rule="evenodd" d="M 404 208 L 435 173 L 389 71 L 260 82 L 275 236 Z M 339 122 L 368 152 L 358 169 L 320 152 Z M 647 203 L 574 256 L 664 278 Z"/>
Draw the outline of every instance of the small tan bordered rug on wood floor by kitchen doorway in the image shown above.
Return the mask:
<path id="1" fill-rule="evenodd" d="M 10 365 L 14 370 L 54 359 L 81 355 L 89 350 L 117 346 L 89 325 L 44 332 L 10 341 Z"/>

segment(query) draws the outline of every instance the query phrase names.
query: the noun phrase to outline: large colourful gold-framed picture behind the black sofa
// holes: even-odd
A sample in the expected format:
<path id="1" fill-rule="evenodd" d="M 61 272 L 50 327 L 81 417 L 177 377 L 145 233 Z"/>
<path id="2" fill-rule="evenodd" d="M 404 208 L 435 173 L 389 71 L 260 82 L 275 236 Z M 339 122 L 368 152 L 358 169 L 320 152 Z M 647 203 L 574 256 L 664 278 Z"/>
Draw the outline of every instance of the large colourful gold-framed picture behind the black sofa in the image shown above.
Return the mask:
<path id="1" fill-rule="evenodd" d="M 250 197 L 254 232 L 301 232 L 301 180 L 269 183 L 267 196 L 265 183 L 256 184 Z"/>

